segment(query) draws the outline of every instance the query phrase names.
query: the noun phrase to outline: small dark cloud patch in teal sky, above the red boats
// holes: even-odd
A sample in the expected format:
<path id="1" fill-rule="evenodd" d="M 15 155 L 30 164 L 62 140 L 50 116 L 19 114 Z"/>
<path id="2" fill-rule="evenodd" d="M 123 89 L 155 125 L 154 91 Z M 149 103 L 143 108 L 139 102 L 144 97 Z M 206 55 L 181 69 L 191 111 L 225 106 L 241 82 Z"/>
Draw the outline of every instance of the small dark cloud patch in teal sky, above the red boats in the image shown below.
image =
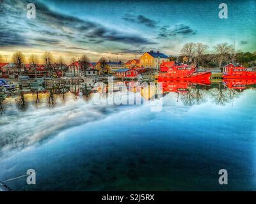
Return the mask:
<path id="1" fill-rule="evenodd" d="M 191 29 L 188 25 L 176 24 L 172 28 L 169 26 L 163 26 L 160 29 L 159 37 L 167 38 L 168 36 L 177 36 L 177 35 L 188 35 L 196 34 L 196 31 Z"/>

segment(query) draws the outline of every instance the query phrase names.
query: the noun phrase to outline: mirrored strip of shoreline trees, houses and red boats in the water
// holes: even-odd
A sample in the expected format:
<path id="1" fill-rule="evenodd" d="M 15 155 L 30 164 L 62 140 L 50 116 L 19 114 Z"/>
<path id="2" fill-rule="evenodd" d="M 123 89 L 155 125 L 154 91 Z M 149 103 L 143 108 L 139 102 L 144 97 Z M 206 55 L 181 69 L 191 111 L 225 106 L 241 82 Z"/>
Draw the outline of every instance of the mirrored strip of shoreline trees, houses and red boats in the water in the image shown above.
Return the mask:
<path id="1" fill-rule="evenodd" d="M 15 92 L 8 93 L 0 90 L 0 112 L 3 114 L 10 106 L 13 99 L 15 105 L 20 112 L 26 112 L 29 104 L 33 103 L 36 108 L 40 108 L 47 103 L 49 109 L 55 108 L 56 105 L 65 105 L 68 101 L 67 96 L 71 94 L 72 99 L 83 99 L 85 102 L 92 100 L 92 95 L 98 92 L 101 95 L 108 93 L 107 87 L 94 83 L 76 83 L 76 84 L 60 84 L 45 87 L 39 87 L 39 90 L 29 89 L 26 86 L 20 86 Z M 125 88 L 124 88 L 125 87 Z M 198 82 L 163 82 L 163 97 L 175 92 L 177 102 L 182 101 L 185 106 L 200 105 L 211 99 L 216 105 L 224 106 L 227 103 L 234 102 L 239 98 L 241 93 L 246 89 L 255 89 L 256 80 L 223 80 L 223 82 L 202 84 Z M 114 82 L 114 91 L 140 92 L 141 85 L 138 82 Z M 147 99 L 152 98 L 156 92 L 148 92 Z M 144 92 L 145 95 L 145 92 Z M 108 94 L 106 94 L 108 97 Z M 58 103 L 60 99 L 61 103 Z"/>

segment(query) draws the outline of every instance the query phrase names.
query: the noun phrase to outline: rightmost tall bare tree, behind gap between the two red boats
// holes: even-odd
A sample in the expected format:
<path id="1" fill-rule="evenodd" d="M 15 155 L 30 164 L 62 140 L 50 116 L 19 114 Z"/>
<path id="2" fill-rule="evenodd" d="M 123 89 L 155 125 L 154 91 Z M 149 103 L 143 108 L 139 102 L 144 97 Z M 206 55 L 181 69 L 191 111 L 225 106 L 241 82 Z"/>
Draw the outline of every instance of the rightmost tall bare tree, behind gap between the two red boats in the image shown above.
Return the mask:
<path id="1" fill-rule="evenodd" d="M 223 71 L 221 68 L 223 59 L 225 59 L 225 57 L 227 57 L 228 55 L 232 54 L 232 50 L 232 45 L 228 45 L 228 43 L 220 43 L 214 46 L 214 52 L 218 57 L 219 68 L 221 69 L 221 72 Z"/>

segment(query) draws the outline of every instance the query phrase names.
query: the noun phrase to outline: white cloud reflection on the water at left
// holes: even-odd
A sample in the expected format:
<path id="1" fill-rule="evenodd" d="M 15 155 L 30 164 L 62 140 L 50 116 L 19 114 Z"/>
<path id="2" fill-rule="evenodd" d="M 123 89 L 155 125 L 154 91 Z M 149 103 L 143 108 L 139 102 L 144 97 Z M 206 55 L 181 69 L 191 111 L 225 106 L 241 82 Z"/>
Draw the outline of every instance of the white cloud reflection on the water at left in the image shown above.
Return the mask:
<path id="1" fill-rule="evenodd" d="M 0 121 L 0 157 L 10 150 L 21 150 L 41 142 L 63 129 L 104 119 L 115 111 L 115 106 L 96 106 L 82 99 L 68 101 L 65 106 L 51 110 L 30 107 L 27 112 L 9 111 Z"/>

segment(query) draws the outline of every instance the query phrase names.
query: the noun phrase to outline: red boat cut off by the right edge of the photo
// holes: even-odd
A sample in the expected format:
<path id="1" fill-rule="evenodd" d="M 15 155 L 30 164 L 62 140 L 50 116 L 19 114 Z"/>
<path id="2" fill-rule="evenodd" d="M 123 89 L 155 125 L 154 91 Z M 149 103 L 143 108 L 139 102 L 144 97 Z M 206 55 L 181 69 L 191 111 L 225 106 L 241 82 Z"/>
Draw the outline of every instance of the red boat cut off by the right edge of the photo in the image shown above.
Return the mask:
<path id="1" fill-rule="evenodd" d="M 225 66 L 223 78 L 256 78 L 256 71 L 247 71 L 247 68 L 228 64 Z"/>

